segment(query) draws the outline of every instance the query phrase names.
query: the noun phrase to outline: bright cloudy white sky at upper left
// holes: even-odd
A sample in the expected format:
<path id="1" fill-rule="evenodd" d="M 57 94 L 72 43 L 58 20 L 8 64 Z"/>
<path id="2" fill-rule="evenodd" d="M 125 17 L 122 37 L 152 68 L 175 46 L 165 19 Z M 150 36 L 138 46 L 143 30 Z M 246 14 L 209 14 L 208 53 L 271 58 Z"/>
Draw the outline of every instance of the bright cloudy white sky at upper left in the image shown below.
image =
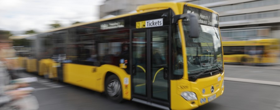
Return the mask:
<path id="1" fill-rule="evenodd" d="M 62 26 L 99 19 L 105 0 L 0 0 L 0 30 L 44 32 L 59 21 Z"/>

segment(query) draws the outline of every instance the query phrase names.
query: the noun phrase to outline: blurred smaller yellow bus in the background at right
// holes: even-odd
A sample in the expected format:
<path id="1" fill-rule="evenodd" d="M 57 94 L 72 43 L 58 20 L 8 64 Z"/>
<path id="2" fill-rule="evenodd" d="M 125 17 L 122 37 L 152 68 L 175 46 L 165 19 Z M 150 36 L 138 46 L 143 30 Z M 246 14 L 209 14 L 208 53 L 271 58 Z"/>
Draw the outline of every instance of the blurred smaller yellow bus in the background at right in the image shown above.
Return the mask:
<path id="1" fill-rule="evenodd" d="M 277 63 L 279 39 L 223 42 L 224 62 Z"/>

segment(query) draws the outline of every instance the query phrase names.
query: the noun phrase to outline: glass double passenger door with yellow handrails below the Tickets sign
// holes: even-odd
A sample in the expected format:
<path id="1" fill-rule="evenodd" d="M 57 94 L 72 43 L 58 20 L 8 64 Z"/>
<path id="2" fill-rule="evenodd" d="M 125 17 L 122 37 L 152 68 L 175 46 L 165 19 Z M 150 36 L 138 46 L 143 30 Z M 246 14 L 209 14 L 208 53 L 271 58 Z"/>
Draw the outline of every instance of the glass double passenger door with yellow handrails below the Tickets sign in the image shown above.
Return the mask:
<path id="1" fill-rule="evenodd" d="M 164 78 L 168 68 L 168 34 L 168 27 L 132 31 L 133 101 L 169 107 L 169 80 Z"/>

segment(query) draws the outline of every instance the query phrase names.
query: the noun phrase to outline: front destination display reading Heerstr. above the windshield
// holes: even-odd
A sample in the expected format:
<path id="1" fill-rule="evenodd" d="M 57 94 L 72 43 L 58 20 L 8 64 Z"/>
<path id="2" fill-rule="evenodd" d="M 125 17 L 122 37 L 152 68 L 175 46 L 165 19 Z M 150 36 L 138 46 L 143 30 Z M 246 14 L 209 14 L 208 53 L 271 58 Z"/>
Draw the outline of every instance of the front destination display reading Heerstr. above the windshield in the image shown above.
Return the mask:
<path id="1" fill-rule="evenodd" d="M 197 13 L 199 24 L 218 27 L 218 15 L 215 13 L 188 6 L 184 7 L 184 13 Z"/>

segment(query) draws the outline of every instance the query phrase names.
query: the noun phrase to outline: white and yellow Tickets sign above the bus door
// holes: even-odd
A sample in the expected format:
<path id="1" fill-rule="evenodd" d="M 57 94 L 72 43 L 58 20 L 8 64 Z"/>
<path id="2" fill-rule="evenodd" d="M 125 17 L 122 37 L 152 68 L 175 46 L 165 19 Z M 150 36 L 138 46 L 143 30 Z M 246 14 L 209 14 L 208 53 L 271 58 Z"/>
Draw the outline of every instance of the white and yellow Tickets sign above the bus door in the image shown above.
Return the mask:
<path id="1" fill-rule="evenodd" d="M 163 18 L 136 22 L 136 28 L 156 27 L 162 25 L 163 25 Z"/>

